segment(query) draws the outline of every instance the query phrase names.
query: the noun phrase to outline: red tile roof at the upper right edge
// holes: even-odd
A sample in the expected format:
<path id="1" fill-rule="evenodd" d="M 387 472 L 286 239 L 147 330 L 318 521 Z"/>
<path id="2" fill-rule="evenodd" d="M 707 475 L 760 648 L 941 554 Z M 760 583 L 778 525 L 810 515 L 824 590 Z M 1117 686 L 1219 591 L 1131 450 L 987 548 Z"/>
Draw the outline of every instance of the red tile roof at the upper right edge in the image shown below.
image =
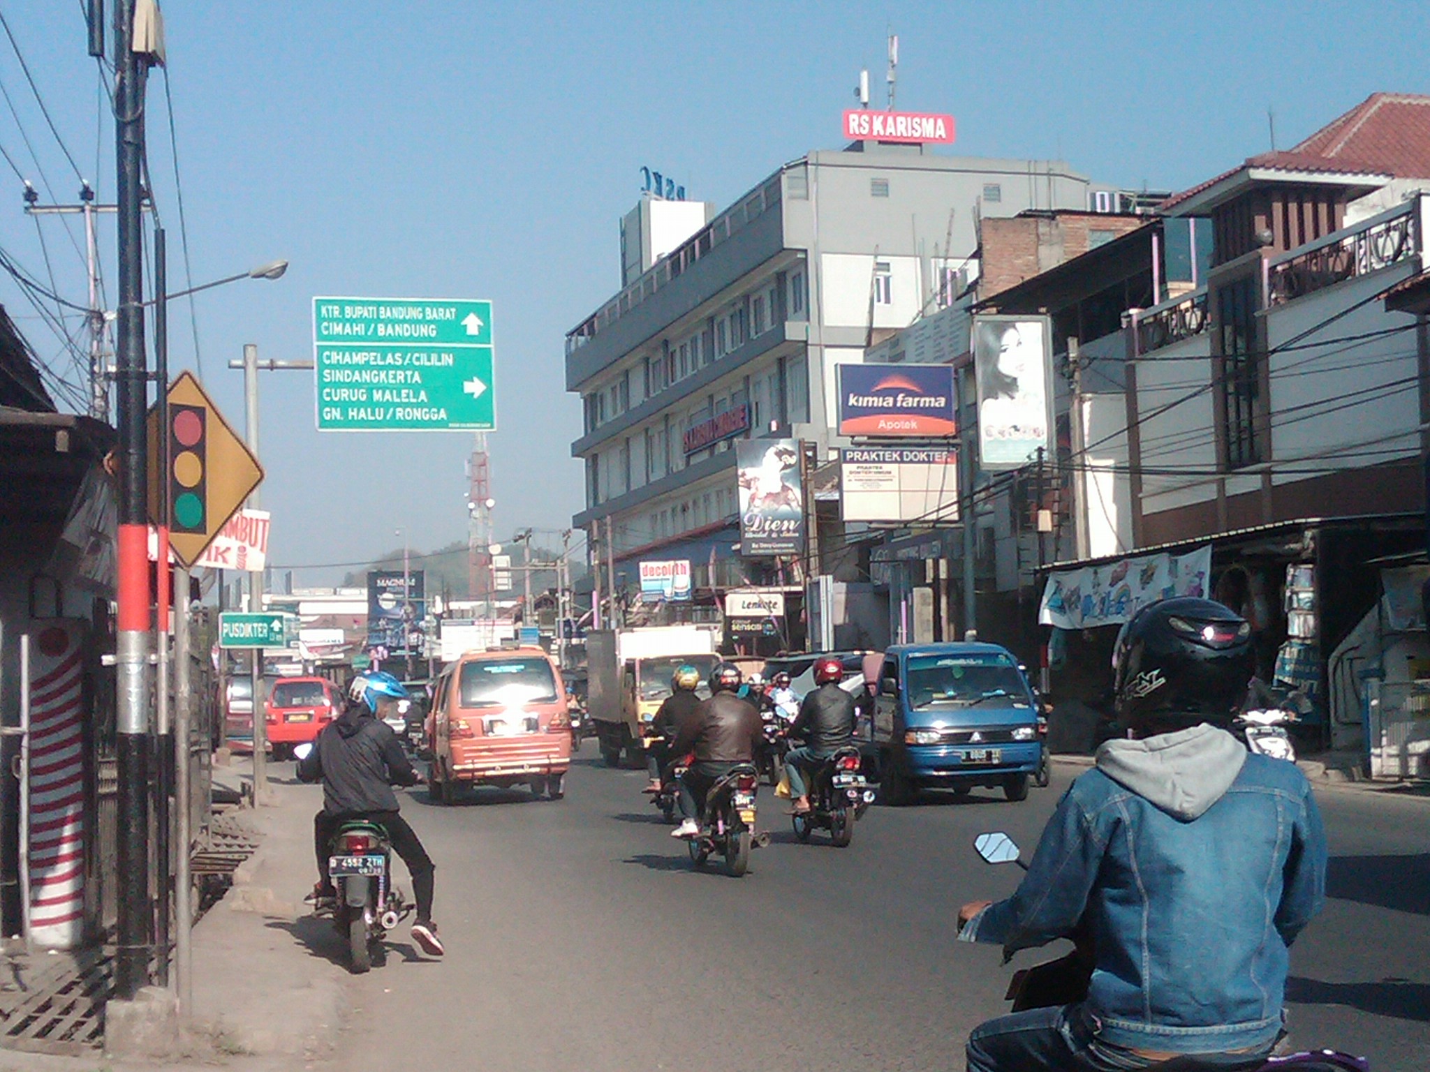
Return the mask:
<path id="1" fill-rule="evenodd" d="M 1163 212 L 1173 209 L 1248 167 L 1430 179 L 1430 96 L 1373 93 L 1290 152 L 1248 157 L 1190 190 L 1173 194 L 1158 207 Z"/>

